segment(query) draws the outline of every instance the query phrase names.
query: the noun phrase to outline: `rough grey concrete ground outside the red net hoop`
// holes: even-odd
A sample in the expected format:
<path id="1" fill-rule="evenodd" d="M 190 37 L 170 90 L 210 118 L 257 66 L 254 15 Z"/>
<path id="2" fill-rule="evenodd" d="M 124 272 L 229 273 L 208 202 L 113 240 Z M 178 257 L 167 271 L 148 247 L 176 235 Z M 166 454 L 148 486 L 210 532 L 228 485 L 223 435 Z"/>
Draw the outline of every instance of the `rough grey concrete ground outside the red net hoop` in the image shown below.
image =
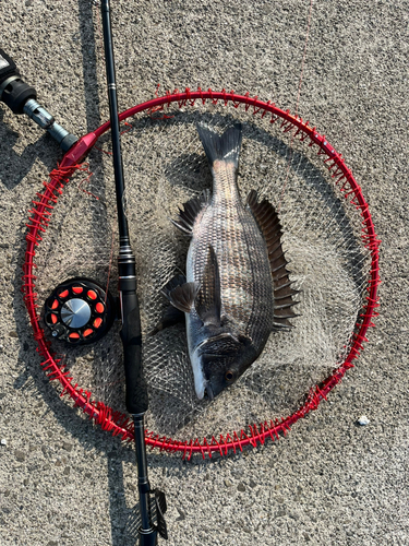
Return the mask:
<path id="1" fill-rule="evenodd" d="M 76 134 L 108 118 L 98 4 L 0 0 L 0 46 Z M 309 1 L 111 9 L 121 109 L 160 83 L 250 91 L 294 111 Z M 409 544 L 408 24 L 405 0 L 314 0 L 298 106 L 370 203 L 382 240 L 377 328 L 287 439 L 204 462 L 148 454 L 151 482 L 167 494 L 169 545 Z M 27 210 L 61 154 L 3 105 L 0 121 L 0 543 L 133 545 L 133 450 L 58 397 L 20 290 Z"/>

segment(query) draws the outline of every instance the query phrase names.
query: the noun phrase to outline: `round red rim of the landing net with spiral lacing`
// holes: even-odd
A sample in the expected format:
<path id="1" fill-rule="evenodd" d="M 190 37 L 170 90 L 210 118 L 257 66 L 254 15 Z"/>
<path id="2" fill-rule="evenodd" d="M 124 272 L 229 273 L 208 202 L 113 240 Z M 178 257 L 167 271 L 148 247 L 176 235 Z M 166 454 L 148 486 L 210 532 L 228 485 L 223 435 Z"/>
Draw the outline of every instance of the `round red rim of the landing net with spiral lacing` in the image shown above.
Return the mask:
<path id="1" fill-rule="evenodd" d="M 245 95 L 237 95 L 233 92 L 220 93 L 202 91 L 199 88 L 195 92 L 187 88 L 183 93 L 176 90 L 173 93 L 167 92 L 165 96 L 154 98 L 146 103 L 134 106 L 120 115 L 120 120 L 139 114 L 141 111 L 157 111 L 166 109 L 167 106 L 177 104 L 180 108 L 184 106 L 193 106 L 195 102 L 212 102 L 213 104 L 222 104 L 225 106 L 232 105 L 234 108 L 243 105 L 246 111 L 253 116 L 269 118 L 270 123 L 279 123 L 284 132 L 292 132 L 293 138 L 301 141 L 308 140 L 309 146 L 317 146 L 317 155 L 322 156 L 326 164 L 330 176 L 334 178 L 336 186 L 348 202 L 356 207 L 362 218 L 361 238 L 364 247 L 371 253 L 371 269 L 369 282 L 366 286 L 365 304 L 359 314 L 356 324 L 356 331 L 352 335 L 351 348 L 345 361 L 333 370 L 330 376 L 316 384 L 310 390 L 305 402 L 292 415 L 269 422 L 264 422 L 258 425 L 249 425 L 248 429 L 240 432 L 233 431 L 226 436 L 220 435 L 219 438 L 212 437 L 210 440 L 191 439 L 187 441 L 173 440 L 172 438 L 159 437 L 153 431 L 145 431 L 146 444 L 152 448 L 159 448 L 160 451 L 182 452 L 183 458 L 190 459 L 193 453 L 201 453 L 205 458 L 206 453 L 212 458 L 212 452 L 218 451 L 220 455 L 227 454 L 230 450 L 234 453 L 237 450 L 242 450 L 245 446 L 256 447 L 258 443 L 264 443 L 267 438 L 272 440 L 278 439 L 279 436 L 286 435 L 290 430 L 291 425 L 298 419 L 305 417 L 311 411 L 316 410 L 322 400 L 326 400 L 327 394 L 339 383 L 349 368 L 353 367 L 352 361 L 359 357 L 363 349 L 363 343 L 366 342 L 366 331 L 374 327 L 373 318 L 377 316 L 376 308 L 378 307 L 377 286 L 380 284 L 380 268 L 378 268 L 378 246 L 380 240 L 376 238 L 375 228 L 372 222 L 369 205 L 362 194 L 362 190 L 352 176 L 350 169 L 345 165 L 341 154 L 338 154 L 334 146 L 329 144 L 325 135 L 320 134 L 315 127 L 310 127 L 309 121 L 304 122 L 300 117 L 292 116 L 289 110 L 284 111 L 277 108 L 270 102 L 258 100 L 257 97 L 251 97 L 249 93 Z M 110 123 L 106 122 L 96 131 L 83 136 L 72 150 L 70 150 L 59 167 L 52 170 L 49 175 L 49 181 L 44 182 L 45 190 L 37 193 L 37 198 L 33 201 L 33 207 L 29 211 L 29 219 L 26 224 L 26 251 L 25 263 L 23 266 L 23 285 L 24 302 L 26 305 L 29 321 L 34 331 L 34 337 L 38 343 L 37 351 L 44 357 L 41 367 L 50 380 L 58 380 L 62 385 L 61 396 L 68 394 L 74 405 L 83 410 L 105 430 L 110 430 L 113 436 L 121 436 L 123 440 L 133 439 L 133 423 L 129 417 L 120 412 L 113 411 L 104 403 L 92 399 L 92 393 L 82 389 L 77 383 L 74 383 L 70 372 L 64 369 L 63 364 L 53 355 L 50 343 L 46 340 L 43 329 L 39 325 L 38 305 L 36 304 L 36 275 L 34 263 L 36 247 L 41 241 L 41 233 L 46 232 L 52 209 L 57 203 L 58 197 L 62 193 L 63 187 L 69 182 L 73 173 L 81 169 L 81 162 L 96 143 L 97 139 L 108 131 Z"/>

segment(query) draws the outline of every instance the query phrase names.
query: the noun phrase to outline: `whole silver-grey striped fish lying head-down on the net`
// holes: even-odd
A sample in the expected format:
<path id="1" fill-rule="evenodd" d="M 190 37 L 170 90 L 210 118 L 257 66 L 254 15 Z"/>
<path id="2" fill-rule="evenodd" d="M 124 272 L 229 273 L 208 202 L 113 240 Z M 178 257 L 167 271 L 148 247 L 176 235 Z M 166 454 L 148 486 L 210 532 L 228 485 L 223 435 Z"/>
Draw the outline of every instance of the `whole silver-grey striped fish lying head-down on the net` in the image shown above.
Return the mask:
<path id="1" fill-rule="evenodd" d="M 238 169 L 242 126 L 221 135 L 196 124 L 213 175 L 204 191 L 179 209 L 173 225 L 190 237 L 187 274 L 163 288 L 171 304 L 155 332 L 185 320 L 194 388 L 213 400 L 258 358 L 274 331 L 292 328 L 291 287 L 274 206 L 250 191 L 242 202 Z"/>

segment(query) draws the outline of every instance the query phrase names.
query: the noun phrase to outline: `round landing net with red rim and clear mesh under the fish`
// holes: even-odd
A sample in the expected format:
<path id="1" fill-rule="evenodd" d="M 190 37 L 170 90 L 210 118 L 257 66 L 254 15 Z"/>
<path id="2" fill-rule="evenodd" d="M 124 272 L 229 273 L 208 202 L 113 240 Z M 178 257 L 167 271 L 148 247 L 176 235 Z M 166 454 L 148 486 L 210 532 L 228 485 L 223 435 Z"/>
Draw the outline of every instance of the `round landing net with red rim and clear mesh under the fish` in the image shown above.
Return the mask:
<path id="1" fill-rule="evenodd" d="M 125 212 L 149 389 L 146 441 L 204 456 L 274 440 L 341 380 L 373 325 L 378 241 L 361 189 L 315 128 L 249 95 L 187 90 L 140 105 L 121 119 Z M 272 334 L 261 357 L 212 402 L 196 399 L 184 327 L 147 335 L 166 306 L 160 288 L 185 268 L 189 239 L 169 218 L 212 188 L 199 120 L 219 132 L 242 122 L 242 199 L 255 189 L 279 211 L 290 278 L 301 290 L 293 330 Z M 117 293 L 113 171 L 110 135 L 103 134 L 108 128 L 96 131 L 100 138 L 86 164 L 56 169 L 37 194 L 23 289 L 46 373 L 104 428 L 130 439 L 120 324 L 95 345 L 68 348 L 50 345 L 38 320 L 47 297 L 67 278 L 91 277 Z"/>

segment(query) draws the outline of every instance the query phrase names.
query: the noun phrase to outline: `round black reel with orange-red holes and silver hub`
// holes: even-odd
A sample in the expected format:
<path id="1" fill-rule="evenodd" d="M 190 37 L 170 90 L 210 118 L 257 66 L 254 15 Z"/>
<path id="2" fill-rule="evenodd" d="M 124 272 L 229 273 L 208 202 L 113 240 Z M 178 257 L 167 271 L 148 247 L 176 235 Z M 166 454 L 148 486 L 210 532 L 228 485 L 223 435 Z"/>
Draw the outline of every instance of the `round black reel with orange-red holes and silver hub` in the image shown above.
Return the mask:
<path id="1" fill-rule="evenodd" d="M 57 286 L 45 304 L 44 321 L 52 337 L 72 345 L 100 340 L 111 328 L 116 306 L 109 292 L 86 277 Z"/>

